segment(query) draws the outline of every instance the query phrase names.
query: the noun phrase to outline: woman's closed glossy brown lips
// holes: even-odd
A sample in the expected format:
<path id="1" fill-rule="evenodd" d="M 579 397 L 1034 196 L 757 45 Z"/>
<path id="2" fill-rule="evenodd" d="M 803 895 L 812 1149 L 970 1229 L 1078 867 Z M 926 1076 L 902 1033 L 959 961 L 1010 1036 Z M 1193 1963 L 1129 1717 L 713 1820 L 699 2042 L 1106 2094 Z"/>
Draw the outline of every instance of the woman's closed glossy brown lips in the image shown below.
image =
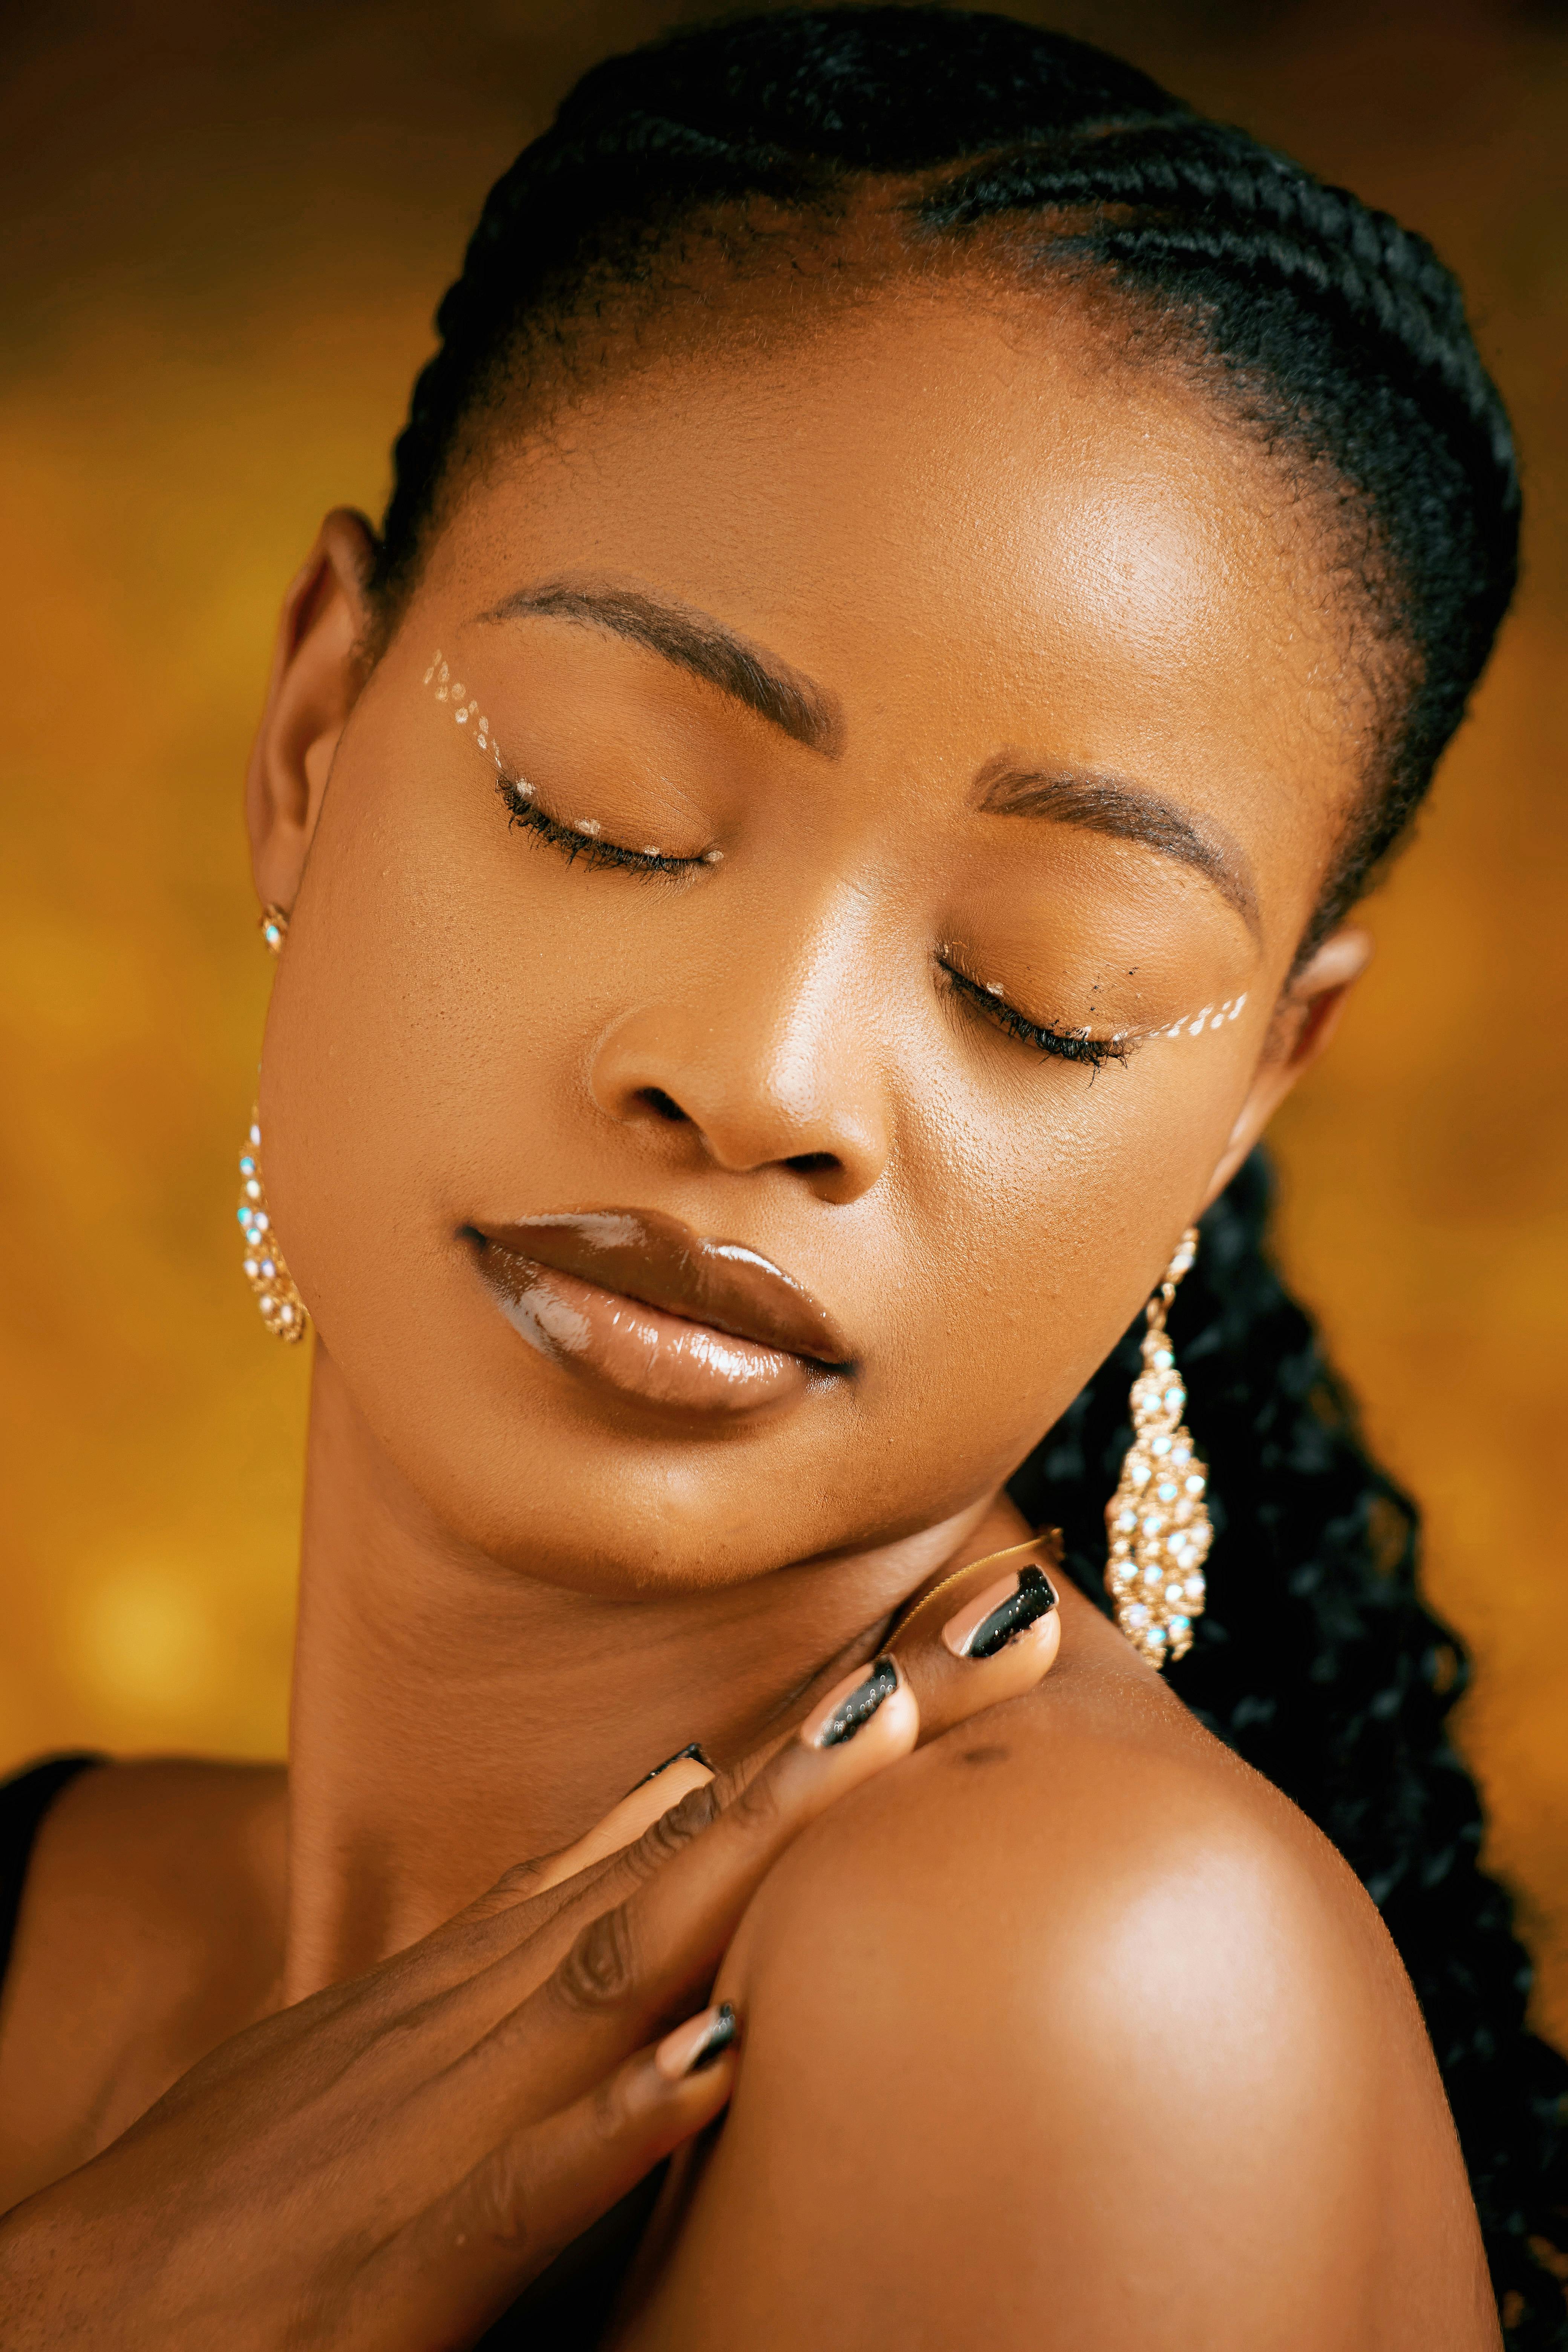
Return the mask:
<path id="1" fill-rule="evenodd" d="M 853 1362 L 799 1282 L 745 1242 L 710 1240 L 658 1209 L 463 1230 L 529 1345 L 656 1404 L 750 1411 Z"/>

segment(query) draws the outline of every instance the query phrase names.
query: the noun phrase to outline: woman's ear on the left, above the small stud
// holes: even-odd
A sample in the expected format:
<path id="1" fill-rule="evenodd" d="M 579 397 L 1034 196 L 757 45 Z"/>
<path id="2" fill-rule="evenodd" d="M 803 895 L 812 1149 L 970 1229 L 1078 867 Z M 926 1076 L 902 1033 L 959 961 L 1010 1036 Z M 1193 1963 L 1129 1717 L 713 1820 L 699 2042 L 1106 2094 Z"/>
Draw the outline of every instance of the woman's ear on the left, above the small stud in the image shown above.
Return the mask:
<path id="1" fill-rule="evenodd" d="M 294 906 L 331 755 L 360 699 L 376 534 L 336 506 L 282 600 L 273 675 L 244 776 L 252 875 L 263 906 Z"/>

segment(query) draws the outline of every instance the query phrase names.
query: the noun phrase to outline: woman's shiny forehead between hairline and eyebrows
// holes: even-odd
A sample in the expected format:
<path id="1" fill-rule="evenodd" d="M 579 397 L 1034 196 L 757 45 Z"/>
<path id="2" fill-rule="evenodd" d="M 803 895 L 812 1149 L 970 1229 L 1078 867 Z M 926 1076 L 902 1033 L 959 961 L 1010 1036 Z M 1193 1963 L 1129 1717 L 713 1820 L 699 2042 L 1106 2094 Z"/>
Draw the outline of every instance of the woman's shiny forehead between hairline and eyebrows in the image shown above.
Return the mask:
<path id="1" fill-rule="evenodd" d="M 1302 920 L 1363 771 L 1312 517 L 1067 285 L 804 318 L 748 287 L 574 374 L 468 473 L 428 586 L 477 609 L 550 572 L 719 614 L 837 696 L 851 750 L 1145 774 L 1244 835 Z"/>

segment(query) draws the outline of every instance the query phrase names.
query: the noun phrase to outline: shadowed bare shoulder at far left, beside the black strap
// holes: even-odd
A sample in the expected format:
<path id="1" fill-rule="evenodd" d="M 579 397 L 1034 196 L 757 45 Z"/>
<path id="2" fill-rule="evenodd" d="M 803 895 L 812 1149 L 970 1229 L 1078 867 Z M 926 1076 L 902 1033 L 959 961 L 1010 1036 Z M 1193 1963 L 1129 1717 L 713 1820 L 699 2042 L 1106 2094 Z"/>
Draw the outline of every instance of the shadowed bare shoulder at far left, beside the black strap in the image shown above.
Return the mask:
<path id="1" fill-rule="evenodd" d="M 0 2211 L 247 2023 L 280 1966 L 280 1766 L 101 1764 L 54 1799 L 0 1990 Z"/>

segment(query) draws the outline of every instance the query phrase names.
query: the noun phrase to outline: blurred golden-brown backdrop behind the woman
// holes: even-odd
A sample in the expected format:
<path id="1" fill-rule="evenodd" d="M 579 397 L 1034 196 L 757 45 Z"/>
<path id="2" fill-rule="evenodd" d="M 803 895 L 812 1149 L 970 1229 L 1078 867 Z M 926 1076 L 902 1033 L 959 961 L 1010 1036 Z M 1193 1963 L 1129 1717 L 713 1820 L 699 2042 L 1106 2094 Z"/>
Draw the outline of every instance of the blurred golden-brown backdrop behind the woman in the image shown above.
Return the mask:
<path id="1" fill-rule="evenodd" d="M 268 985 L 240 771 L 284 581 L 378 508 L 484 188 L 668 0 L 54 0 L 0 26 L 0 1771 L 277 1755 L 303 1350 L 240 1279 Z M 1281 1247 L 1429 1515 L 1462 1740 L 1568 2046 L 1568 16 L 1060 0 L 1422 228 L 1519 423 L 1528 576 L 1276 1145 Z"/>

